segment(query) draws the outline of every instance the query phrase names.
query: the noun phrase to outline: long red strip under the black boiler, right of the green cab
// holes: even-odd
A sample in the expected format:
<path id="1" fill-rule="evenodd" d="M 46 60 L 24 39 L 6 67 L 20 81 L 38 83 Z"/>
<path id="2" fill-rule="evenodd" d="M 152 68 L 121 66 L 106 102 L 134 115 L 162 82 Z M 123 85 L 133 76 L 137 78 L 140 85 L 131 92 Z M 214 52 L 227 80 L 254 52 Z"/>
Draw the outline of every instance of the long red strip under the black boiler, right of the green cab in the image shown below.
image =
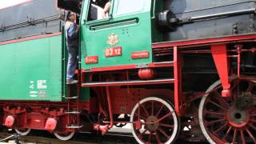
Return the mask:
<path id="1" fill-rule="evenodd" d="M 161 42 L 161 43 L 154 43 L 152 45 L 152 48 L 157 49 L 162 47 L 174 47 L 174 46 L 193 46 L 193 45 L 196 46 L 196 45 L 202 45 L 202 44 L 242 41 L 242 40 L 248 40 L 248 39 L 256 40 L 256 34 L 237 35 L 237 36 L 229 36 L 229 37 L 222 37 L 222 38 L 196 39 L 196 40 L 178 41 L 178 42 Z"/>

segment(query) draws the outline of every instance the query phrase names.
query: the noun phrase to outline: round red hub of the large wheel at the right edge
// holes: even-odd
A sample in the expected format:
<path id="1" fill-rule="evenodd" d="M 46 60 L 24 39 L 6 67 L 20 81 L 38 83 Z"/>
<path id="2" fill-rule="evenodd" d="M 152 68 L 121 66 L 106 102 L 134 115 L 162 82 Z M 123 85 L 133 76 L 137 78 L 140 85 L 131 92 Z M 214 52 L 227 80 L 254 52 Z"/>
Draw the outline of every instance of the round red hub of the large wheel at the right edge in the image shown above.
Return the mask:
<path id="1" fill-rule="evenodd" d="M 226 115 L 230 125 L 238 128 L 246 126 L 250 118 L 250 114 L 246 110 L 238 110 L 235 107 L 231 107 Z"/>

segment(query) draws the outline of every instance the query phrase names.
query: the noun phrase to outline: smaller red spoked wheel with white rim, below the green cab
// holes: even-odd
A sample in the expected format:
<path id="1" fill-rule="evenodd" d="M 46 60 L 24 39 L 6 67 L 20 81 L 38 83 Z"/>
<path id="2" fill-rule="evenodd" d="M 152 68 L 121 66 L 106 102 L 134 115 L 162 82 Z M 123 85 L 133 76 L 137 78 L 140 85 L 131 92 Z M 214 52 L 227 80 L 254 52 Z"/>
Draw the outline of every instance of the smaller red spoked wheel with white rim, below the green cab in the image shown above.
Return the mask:
<path id="1" fill-rule="evenodd" d="M 178 136 L 179 119 L 173 106 L 162 98 L 142 99 L 130 116 L 134 138 L 138 143 L 172 143 Z"/>

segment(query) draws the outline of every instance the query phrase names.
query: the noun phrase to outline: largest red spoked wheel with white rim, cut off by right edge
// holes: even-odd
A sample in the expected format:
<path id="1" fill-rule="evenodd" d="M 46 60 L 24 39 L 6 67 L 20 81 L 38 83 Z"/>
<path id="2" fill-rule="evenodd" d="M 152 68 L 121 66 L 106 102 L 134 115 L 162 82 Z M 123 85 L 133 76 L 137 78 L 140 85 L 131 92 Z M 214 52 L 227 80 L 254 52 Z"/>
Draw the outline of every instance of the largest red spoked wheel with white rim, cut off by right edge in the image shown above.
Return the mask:
<path id="1" fill-rule="evenodd" d="M 210 143 L 256 143 L 256 81 L 235 79 L 232 96 L 223 98 L 220 82 L 199 106 L 202 133 Z"/>

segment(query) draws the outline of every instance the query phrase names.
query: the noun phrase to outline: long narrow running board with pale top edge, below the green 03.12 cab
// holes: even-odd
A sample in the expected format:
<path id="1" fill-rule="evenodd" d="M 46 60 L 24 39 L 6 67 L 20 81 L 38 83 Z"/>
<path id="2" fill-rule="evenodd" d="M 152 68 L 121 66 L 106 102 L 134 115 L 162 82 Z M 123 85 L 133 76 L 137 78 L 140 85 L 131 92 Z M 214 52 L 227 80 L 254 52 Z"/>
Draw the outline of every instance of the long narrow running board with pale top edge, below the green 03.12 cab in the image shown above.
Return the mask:
<path id="1" fill-rule="evenodd" d="M 174 78 L 170 79 L 156 79 L 148 81 L 119 81 L 119 82 L 90 82 L 82 83 L 82 87 L 100 87 L 100 86 L 130 86 L 130 85 L 154 85 L 174 83 Z"/>

